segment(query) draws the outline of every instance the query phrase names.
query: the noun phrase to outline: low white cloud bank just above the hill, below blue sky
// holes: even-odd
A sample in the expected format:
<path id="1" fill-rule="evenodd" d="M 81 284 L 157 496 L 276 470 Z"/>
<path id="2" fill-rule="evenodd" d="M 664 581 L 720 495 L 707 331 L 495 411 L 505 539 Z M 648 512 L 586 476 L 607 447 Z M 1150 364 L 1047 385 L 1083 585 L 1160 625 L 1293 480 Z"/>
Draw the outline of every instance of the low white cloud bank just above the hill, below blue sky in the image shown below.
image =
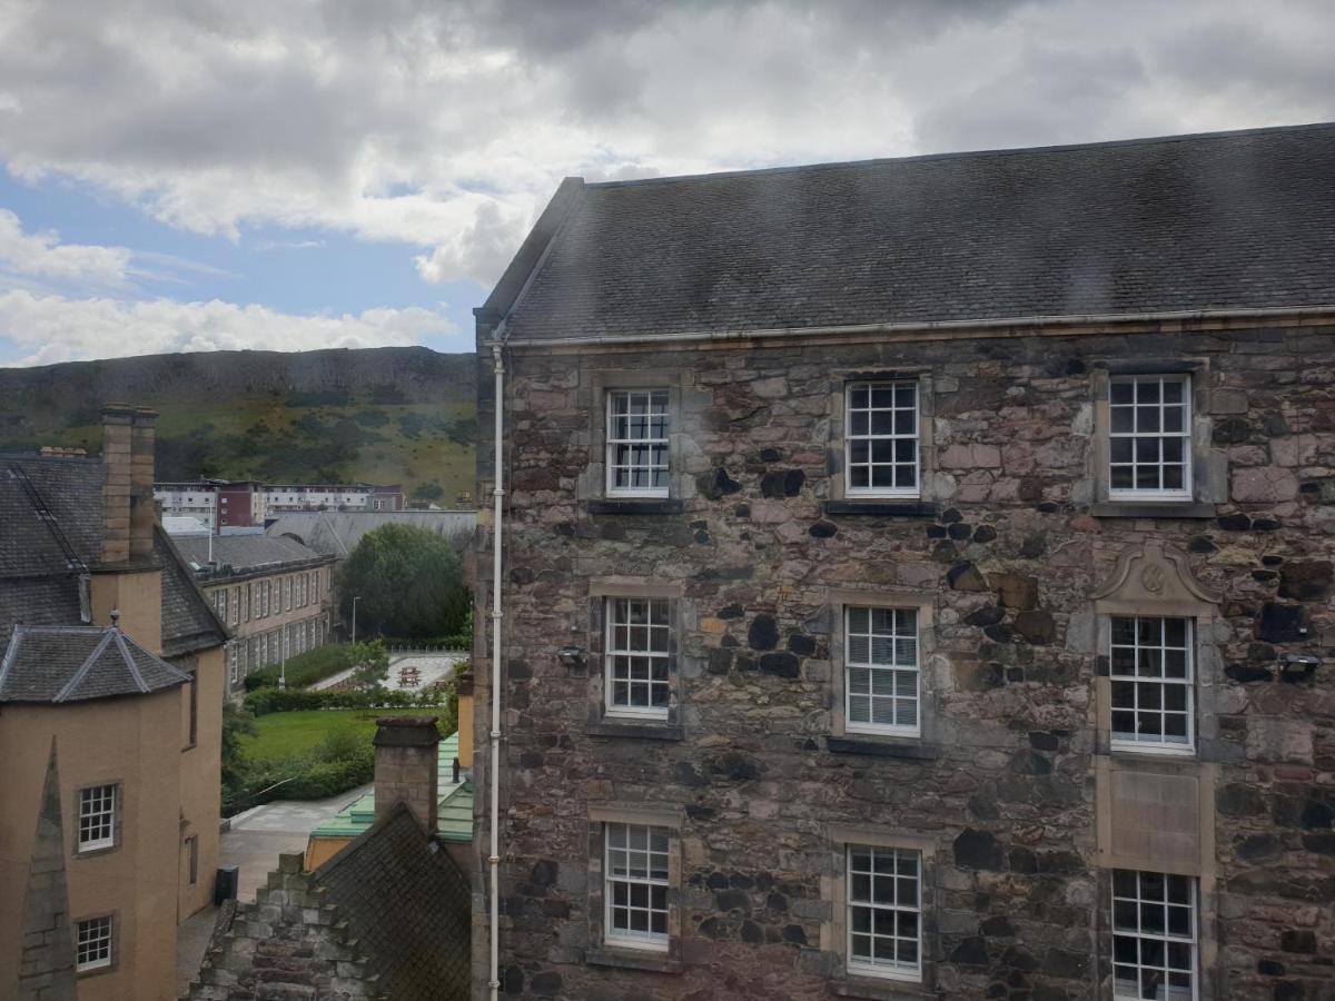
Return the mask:
<path id="1" fill-rule="evenodd" d="M 35 295 L 28 290 L 0 292 L 0 338 L 28 352 L 15 363 L 20 366 L 175 351 L 387 347 L 455 334 L 447 318 L 417 307 L 294 316 L 216 299 L 123 302 Z M 469 346 L 461 339 L 454 350 Z"/>

